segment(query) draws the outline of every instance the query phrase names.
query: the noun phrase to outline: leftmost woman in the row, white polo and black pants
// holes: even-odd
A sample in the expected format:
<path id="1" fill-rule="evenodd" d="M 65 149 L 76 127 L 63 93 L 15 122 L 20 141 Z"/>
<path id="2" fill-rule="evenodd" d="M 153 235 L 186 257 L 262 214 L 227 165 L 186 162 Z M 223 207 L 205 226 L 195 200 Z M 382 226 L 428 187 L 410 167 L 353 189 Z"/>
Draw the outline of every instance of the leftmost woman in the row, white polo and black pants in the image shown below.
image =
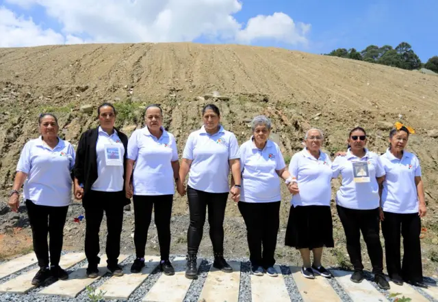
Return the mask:
<path id="1" fill-rule="evenodd" d="M 16 212 L 19 204 L 18 190 L 24 183 L 23 195 L 32 229 L 34 251 L 40 266 L 31 282 L 35 286 L 51 276 L 63 280 L 68 278 L 59 263 L 64 224 L 71 202 L 71 171 L 75 164 L 73 146 L 57 136 L 59 126 L 55 115 L 41 114 L 38 124 L 41 136 L 27 141 L 21 151 L 9 198 L 9 205 Z M 47 234 L 50 236 L 49 245 Z"/>

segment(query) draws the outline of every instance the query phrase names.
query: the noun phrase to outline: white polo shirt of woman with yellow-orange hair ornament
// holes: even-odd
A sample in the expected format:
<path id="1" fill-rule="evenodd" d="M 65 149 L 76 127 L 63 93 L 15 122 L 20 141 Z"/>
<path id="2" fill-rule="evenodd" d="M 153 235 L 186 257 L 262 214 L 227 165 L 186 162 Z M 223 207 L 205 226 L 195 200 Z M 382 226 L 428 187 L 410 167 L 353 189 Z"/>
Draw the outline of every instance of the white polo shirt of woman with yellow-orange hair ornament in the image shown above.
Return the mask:
<path id="1" fill-rule="evenodd" d="M 417 156 L 403 151 L 402 159 L 389 150 L 381 156 L 386 179 L 383 182 L 382 208 L 385 212 L 417 213 L 418 195 L 415 176 L 422 176 Z"/>

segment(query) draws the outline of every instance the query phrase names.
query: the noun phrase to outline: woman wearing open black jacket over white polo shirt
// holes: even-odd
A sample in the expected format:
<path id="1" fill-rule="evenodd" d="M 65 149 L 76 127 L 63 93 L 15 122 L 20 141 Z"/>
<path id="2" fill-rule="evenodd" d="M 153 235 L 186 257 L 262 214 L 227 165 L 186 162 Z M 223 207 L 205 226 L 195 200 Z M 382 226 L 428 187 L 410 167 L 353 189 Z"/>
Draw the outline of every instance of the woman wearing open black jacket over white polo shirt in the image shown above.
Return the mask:
<path id="1" fill-rule="evenodd" d="M 82 133 L 75 160 L 75 197 L 82 200 L 86 217 L 85 253 L 87 276 L 99 275 L 99 228 L 103 212 L 107 217 L 107 269 L 115 276 L 123 275 L 118 266 L 128 137 L 114 128 L 116 109 L 103 103 L 97 109 L 100 126 Z"/>

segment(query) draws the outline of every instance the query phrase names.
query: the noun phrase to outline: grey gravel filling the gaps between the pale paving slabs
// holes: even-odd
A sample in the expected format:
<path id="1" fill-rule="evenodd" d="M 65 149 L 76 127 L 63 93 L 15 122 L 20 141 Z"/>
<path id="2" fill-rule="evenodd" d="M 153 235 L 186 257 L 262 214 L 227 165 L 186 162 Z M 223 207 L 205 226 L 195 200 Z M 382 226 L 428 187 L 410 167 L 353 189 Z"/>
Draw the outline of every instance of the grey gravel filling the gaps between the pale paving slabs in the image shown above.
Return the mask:
<path id="1" fill-rule="evenodd" d="M 177 255 L 177 256 L 184 256 L 184 255 Z M 175 259 L 175 257 L 177 257 L 177 256 L 172 256 L 170 258 L 170 260 Z M 122 266 L 131 265 L 134 258 L 135 258 L 135 256 L 131 255 L 127 259 L 125 259 L 123 262 L 121 262 L 120 264 Z M 251 301 L 250 262 L 248 261 L 247 258 L 229 258 L 227 260 L 241 262 L 239 302 L 250 302 Z M 201 295 L 201 291 L 203 289 L 203 286 L 205 284 L 205 280 L 207 279 L 209 268 L 210 268 L 212 263 L 213 263 L 212 257 L 203 258 L 203 262 L 201 262 L 201 266 L 199 267 L 199 270 L 198 270 L 198 272 L 199 272 L 198 279 L 194 279 L 192 281 L 192 284 L 190 285 L 190 288 L 189 288 L 189 290 L 188 290 L 188 292 L 185 295 L 185 298 L 183 300 L 184 302 L 198 301 L 199 296 Z M 75 271 L 75 269 L 79 269 L 79 267 L 83 266 L 83 264 L 86 264 L 86 260 L 83 260 L 83 261 L 79 262 L 78 264 L 76 264 L 75 266 L 68 269 L 68 273 Z M 20 275 L 21 273 L 25 273 L 25 272 L 35 268 L 36 266 L 37 265 L 34 264 L 33 266 L 29 266 L 26 269 L 21 270 L 19 273 L 15 273 L 11 276 L 0 279 L 0 283 L 6 282 L 9 279 L 16 277 L 17 275 Z M 296 287 L 296 283 L 294 282 L 294 279 L 292 277 L 289 266 L 280 265 L 280 269 L 281 269 L 281 273 L 283 273 L 283 277 L 285 279 L 285 286 L 287 288 L 287 291 L 289 292 L 289 297 L 290 297 L 291 301 L 302 302 L 303 301 L 302 297 L 300 296 L 300 294 L 298 292 L 298 288 Z M 159 271 L 159 269 L 157 267 L 144 280 L 142 285 L 131 294 L 131 297 L 129 298 L 128 301 L 129 302 L 141 301 L 141 299 L 144 297 L 144 295 L 147 292 L 149 292 L 149 290 L 152 288 L 152 286 L 155 284 L 155 282 L 157 282 L 157 279 L 159 279 L 159 277 L 161 277 L 161 275 L 162 275 L 162 272 Z M 94 282 L 91 285 L 91 287 L 98 288 L 99 286 L 101 286 L 101 284 L 103 284 L 105 281 L 107 281 L 107 279 L 109 279 L 110 277 L 111 277 L 110 273 L 106 273 L 105 275 L 103 275 L 103 277 L 101 277 L 101 279 L 96 280 L 96 282 Z M 372 273 L 365 271 L 365 278 L 379 292 L 384 294 L 387 299 L 389 299 L 390 301 L 394 300 L 394 299 L 389 298 L 389 292 L 387 292 L 386 290 L 381 290 L 380 288 L 378 288 L 378 286 L 376 286 L 376 284 L 373 281 L 374 275 L 372 275 Z M 352 302 L 350 297 L 348 297 L 348 295 L 346 294 L 346 292 L 344 291 L 342 286 L 340 286 L 337 283 L 335 278 L 328 279 L 328 281 L 331 284 L 331 286 L 333 287 L 333 289 L 335 290 L 335 292 L 337 292 L 339 297 L 341 297 L 342 301 Z M 431 278 L 425 278 L 425 281 L 429 282 L 431 284 L 436 284 L 436 280 L 431 279 Z M 23 302 L 26 302 L 26 301 L 29 301 L 29 302 L 30 301 L 32 301 L 32 302 L 34 302 L 34 301 L 35 302 L 64 302 L 64 301 L 65 302 L 84 302 L 84 301 L 90 301 L 90 299 L 88 299 L 88 294 L 87 294 L 86 290 L 81 292 L 75 299 L 68 299 L 68 298 L 62 298 L 62 297 L 38 296 L 38 292 L 40 290 L 42 290 L 43 288 L 49 286 L 51 283 L 53 283 L 53 282 L 51 282 L 49 280 L 48 282 L 46 282 L 46 284 L 44 284 L 43 286 L 40 286 L 40 288 L 35 288 L 33 290 L 30 290 L 29 293 L 25 294 L 25 295 L 0 294 L 0 301 L 8 301 L 8 302 L 12 302 L 12 301 L 14 301 L 14 302 L 22 302 L 22 301 Z M 436 301 L 436 300 L 433 300 L 431 297 L 429 297 L 420 288 L 415 288 L 415 289 L 418 290 L 421 294 L 423 294 L 424 297 L 430 299 L 430 301 Z M 117 300 L 113 300 L 113 301 L 116 302 Z"/>

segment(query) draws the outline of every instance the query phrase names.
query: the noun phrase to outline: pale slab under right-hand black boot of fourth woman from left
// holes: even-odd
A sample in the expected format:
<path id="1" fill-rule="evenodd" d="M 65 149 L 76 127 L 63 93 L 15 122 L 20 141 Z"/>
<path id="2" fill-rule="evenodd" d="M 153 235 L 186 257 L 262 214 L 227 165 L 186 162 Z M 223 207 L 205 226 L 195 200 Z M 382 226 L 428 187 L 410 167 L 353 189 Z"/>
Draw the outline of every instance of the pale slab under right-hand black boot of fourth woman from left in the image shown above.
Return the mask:
<path id="1" fill-rule="evenodd" d="M 240 262 L 228 262 L 233 273 L 224 273 L 210 266 L 199 301 L 203 302 L 237 302 L 240 289 Z M 220 293 L 220 294 L 219 294 Z"/>

